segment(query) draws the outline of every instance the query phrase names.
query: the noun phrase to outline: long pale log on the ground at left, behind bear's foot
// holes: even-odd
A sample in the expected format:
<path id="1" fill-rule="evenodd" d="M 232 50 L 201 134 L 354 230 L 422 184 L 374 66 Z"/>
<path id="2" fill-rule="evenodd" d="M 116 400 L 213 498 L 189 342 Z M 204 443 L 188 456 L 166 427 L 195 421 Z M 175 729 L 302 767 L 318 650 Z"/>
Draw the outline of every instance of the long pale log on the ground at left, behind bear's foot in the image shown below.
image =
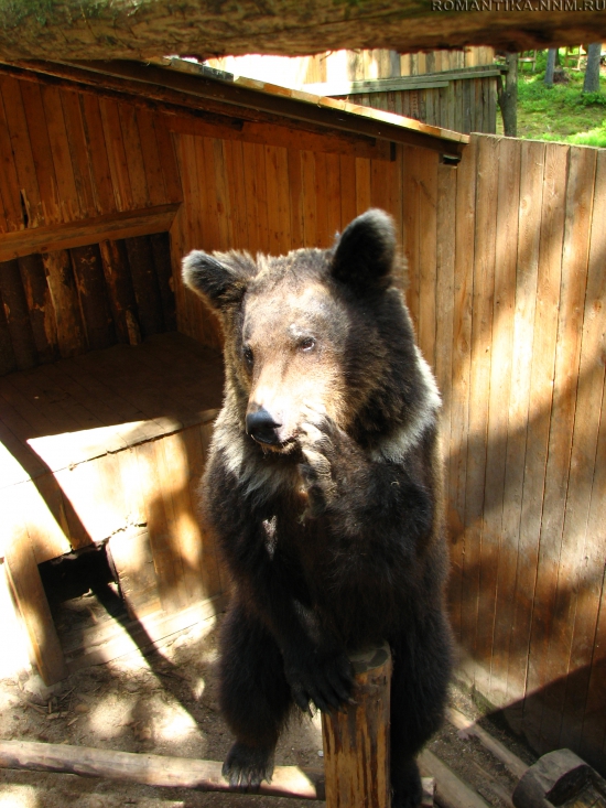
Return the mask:
<path id="1" fill-rule="evenodd" d="M 62 772 L 83 777 L 140 783 L 197 791 L 237 791 L 221 775 L 216 761 L 133 754 L 90 746 L 0 742 L 0 767 L 34 772 Z M 324 799 L 322 772 L 297 766 L 275 766 L 271 783 L 263 780 L 259 794 L 296 799 Z"/>

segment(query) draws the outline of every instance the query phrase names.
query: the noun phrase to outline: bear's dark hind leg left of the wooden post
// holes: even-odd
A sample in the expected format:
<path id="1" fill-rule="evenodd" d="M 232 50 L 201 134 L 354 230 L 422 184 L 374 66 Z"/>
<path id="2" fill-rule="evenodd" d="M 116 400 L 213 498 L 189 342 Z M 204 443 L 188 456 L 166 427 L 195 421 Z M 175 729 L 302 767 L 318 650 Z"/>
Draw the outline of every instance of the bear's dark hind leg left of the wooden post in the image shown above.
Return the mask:
<path id="1" fill-rule="evenodd" d="M 231 786 L 271 779 L 273 751 L 292 705 L 282 655 L 267 627 L 236 602 L 220 637 L 219 703 L 236 735 L 223 766 Z"/>

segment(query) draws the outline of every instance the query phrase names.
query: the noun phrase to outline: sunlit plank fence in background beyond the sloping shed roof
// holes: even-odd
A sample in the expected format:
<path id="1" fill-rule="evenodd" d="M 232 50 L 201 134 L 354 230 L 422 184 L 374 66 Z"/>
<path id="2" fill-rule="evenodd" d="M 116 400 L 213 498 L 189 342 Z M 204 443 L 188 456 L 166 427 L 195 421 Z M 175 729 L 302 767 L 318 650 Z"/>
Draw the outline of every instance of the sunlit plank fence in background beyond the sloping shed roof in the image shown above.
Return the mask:
<path id="1" fill-rule="evenodd" d="M 491 47 L 399 54 L 336 51 L 316 56 L 231 56 L 208 64 L 237 75 L 385 109 L 458 132 L 494 134 L 497 78 Z"/>

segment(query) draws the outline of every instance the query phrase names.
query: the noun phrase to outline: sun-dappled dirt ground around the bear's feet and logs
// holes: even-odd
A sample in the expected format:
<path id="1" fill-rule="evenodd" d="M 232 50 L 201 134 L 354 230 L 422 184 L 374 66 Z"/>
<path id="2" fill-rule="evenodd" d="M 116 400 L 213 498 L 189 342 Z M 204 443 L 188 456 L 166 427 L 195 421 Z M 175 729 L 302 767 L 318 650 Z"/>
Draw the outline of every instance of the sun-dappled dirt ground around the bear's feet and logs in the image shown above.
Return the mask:
<path id="1" fill-rule="evenodd" d="M 53 692 L 36 676 L 0 682 L 0 737 L 125 752 L 223 761 L 231 737 L 216 696 L 216 628 L 178 635 L 160 651 L 131 654 L 72 675 Z M 453 688 L 452 703 L 480 718 L 472 700 Z M 486 723 L 524 762 L 532 756 L 507 731 Z M 505 767 L 475 737 L 447 724 L 430 744 L 434 754 L 473 785 L 495 808 L 511 808 L 515 786 Z M 275 763 L 322 766 L 320 717 L 294 721 Z M 230 806 L 311 808 L 321 802 L 185 789 L 154 789 L 74 775 L 0 771 L 0 808 L 194 808 Z"/>

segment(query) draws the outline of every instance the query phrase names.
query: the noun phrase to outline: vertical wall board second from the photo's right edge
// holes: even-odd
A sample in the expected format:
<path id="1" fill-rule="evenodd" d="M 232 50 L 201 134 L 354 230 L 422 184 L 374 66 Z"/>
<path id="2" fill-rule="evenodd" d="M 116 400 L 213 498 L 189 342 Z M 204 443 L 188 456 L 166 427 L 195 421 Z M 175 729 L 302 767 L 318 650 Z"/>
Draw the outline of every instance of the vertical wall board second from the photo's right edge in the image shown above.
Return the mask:
<path id="1" fill-rule="evenodd" d="M 541 737 L 550 746 L 558 744 L 560 737 L 566 683 L 565 676 L 569 672 L 574 626 L 576 596 L 573 582 L 577 564 L 581 565 L 583 562 L 583 559 L 577 554 L 577 542 L 582 547 L 583 538 L 576 535 L 574 520 L 569 532 L 566 520 L 569 507 L 578 509 L 580 513 L 577 511 L 575 517 L 578 516 L 580 522 L 586 518 L 582 513 L 586 507 L 583 502 L 584 495 L 577 492 L 576 481 L 573 480 L 574 485 L 572 487 L 569 483 L 574 423 L 577 412 L 576 392 L 596 157 L 597 151 L 593 149 L 571 148 L 562 252 L 562 288 L 555 357 L 554 405 L 542 526 L 549 529 L 549 534 L 543 535 L 542 532 L 543 540 L 561 542 L 558 584 L 553 601 L 555 620 L 550 637 L 549 655 L 545 660 L 547 680 L 551 682 L 551 686 L 543 697 L 541 719 Z M 549 522 L 549 527 L 547 522 Z M 581 525 L 578 525 L 578 529 L 581 529 Z"/>

